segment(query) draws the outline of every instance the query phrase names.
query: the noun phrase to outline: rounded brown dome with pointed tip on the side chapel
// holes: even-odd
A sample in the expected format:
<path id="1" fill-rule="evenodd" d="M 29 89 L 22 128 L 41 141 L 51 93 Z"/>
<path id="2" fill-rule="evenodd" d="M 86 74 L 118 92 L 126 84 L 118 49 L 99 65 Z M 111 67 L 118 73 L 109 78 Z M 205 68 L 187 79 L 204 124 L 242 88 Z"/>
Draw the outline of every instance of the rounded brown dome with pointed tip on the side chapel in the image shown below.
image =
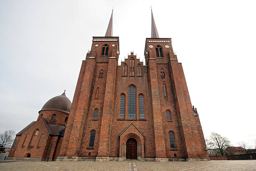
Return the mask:
<path id="1" fill-rule="evenodd" d="M 61 111 L 69 114 L 71 104 L 71 101 L 69 100 L 69 98 L 67 98 L 64 91 L 64 93 L 62 93 L 60 96 L 56 96 L 47 101 L 42 107 L 41 111 L 52 110 Z"/>

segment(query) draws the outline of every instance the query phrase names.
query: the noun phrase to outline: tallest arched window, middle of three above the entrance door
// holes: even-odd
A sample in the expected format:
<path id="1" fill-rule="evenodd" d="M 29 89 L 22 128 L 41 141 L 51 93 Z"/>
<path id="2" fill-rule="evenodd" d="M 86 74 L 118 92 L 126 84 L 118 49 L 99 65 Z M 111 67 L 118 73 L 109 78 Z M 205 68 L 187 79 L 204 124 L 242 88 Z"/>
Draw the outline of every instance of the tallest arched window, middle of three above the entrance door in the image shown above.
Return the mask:
<path id="1" fill-rule="evenodd" d="M 128 118 L 136 118 L 136 95 L 135 88 L 129 88 Z"/>

